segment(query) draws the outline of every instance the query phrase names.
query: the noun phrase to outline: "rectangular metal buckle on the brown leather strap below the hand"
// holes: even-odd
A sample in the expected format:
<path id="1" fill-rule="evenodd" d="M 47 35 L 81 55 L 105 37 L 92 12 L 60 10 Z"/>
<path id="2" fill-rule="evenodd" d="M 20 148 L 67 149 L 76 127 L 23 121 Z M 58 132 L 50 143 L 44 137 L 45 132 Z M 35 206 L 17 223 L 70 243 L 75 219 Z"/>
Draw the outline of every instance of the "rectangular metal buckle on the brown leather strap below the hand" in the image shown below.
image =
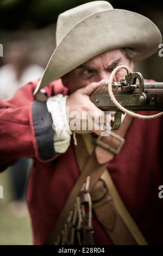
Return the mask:
<path id="1" fill-rule="evenodd" d="M 122 138 L 120 135 L 117 135 L 115 132 L 112 132 L 110 133 L 110 136 L 113 137 L 113 138 L 116 138 L 118 141 L 120 141 L 120 145 L 118 145 L 118 148 L 114 148 L 108 144 L 106 144 L 105 142 L 103 142 L 101 140 L 101 136 L 98 136 L 97 139 L 96 139 L 96 144 L 99 145 L 100 147 L 110 151 L 111 153 L 117 155 L 118 153 L 120 153 L 122 147 L 123 147 L 123 144 L 125 142 L 125 139 Z"/>

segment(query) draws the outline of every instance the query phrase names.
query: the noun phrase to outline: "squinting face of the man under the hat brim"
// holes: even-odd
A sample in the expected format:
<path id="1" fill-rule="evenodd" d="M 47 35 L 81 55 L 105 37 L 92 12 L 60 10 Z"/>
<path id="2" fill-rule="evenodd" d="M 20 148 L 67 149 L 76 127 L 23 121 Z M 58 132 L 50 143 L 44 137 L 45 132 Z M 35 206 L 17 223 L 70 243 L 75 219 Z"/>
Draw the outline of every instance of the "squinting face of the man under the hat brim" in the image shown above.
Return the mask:
<path id="1" fill-rule="evenodd" d="M 121 49 L 104 52 L 70 71 L 62 77 L 62 82 L 70 90 L 70 93 L 73 93 L 92 82 L 99 82 L 103 79 L 108 81 L 112 70 L 118 65 L 126 65 L 130 71 L 133 71 L 134 68 L 133 62 L 126 57 Z M 120 69 L 113 81 L 119 82 L 120 78 L 125 75 L 126 70 Z"/>

